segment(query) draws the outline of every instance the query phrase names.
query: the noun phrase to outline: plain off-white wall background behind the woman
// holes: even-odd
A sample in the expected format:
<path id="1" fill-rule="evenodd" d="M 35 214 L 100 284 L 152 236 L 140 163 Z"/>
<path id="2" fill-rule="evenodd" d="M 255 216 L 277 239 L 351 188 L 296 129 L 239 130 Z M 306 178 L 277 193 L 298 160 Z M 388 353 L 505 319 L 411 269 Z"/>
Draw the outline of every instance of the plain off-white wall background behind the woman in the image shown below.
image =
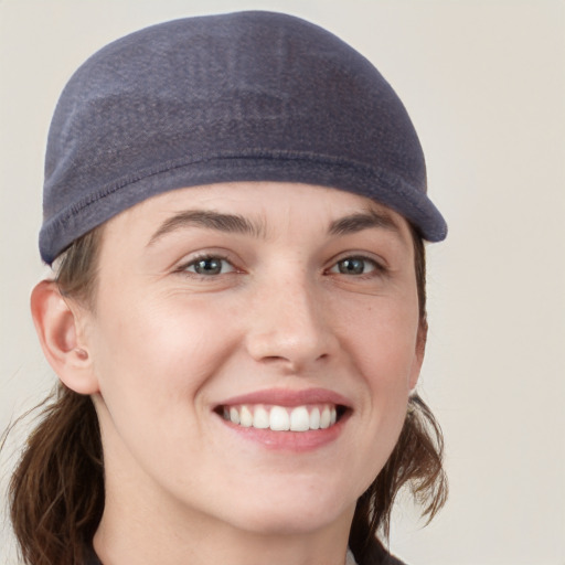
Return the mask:
<path id="1" fill-rule="evenodd" d="M 381 70 L 449 223 L 428 246 L 419 390 L 445 430 L 451 497 L 426 529 L 402 504 L 393 552 L 411 565 L 564 565 L 564 1 L 0 0 L 0 429 L 54 383 L 28 301 L 44 273 L 42 160 L 64 83 L 130 31 L 252 8 L 315 21 Z M 10 546 L 4 527 L 2 565 L 15 564 Z"/>

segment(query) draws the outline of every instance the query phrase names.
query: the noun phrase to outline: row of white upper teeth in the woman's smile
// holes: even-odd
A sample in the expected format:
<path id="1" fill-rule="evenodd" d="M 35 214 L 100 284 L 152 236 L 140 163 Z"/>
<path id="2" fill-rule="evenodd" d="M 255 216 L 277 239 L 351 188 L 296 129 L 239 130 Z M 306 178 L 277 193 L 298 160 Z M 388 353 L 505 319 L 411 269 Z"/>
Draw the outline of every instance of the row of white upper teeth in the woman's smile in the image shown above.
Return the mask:
<path id="1" fill-rule="evenodd" d="M 333 405 L 296 406 L 231 406 L 223 409 L 224 419 L 243 427 L 270 428 L 274 431 L 308 431 L 327 429 L 338 420 Z"/>

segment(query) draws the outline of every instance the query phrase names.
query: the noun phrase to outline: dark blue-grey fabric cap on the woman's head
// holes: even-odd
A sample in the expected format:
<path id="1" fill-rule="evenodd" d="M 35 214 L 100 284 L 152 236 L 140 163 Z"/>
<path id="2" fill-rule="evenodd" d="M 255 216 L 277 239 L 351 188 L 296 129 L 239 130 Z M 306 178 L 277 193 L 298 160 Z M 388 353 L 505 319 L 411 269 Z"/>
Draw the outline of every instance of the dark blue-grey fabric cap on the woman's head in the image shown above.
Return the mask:
<path id="1" fill-rule="evenodd" d="M 41 256 L 154 194 L 262 180 L 354 192 L 428 241 L 447 233 L 414 126 L 376 68 L 312 23 L 252 11 L 147 28 L 76 71 L 49 134 Z"/>

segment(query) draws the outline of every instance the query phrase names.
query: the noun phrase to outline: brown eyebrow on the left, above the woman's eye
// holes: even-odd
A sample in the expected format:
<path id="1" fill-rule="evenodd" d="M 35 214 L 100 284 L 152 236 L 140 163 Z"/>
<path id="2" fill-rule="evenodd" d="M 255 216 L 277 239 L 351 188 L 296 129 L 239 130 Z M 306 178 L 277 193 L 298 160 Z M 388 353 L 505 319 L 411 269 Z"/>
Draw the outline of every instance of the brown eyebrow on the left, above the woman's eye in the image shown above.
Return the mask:
<path id="1" fill-rule="evenodd" d="M 265 234 L 265 226 L 262 223 L 254 223 L 237 214 L 221 214 L 209 210 L 185 210 L 166 220 L 153 233 L 148 245 L 152 245 L 166 234 L 191 226 L 253 235 L 254 237 L 263 237 Z"/>

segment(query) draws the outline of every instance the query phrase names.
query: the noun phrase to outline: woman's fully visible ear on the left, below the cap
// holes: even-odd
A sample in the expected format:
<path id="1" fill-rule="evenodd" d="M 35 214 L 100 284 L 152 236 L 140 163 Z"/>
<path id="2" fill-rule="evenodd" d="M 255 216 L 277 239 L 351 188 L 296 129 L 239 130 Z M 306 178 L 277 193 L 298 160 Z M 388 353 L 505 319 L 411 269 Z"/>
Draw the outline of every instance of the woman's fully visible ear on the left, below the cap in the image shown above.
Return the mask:
<path id="1" fill-rule="evenodd" d="M 32 291 L 31 313 L 43 353 L 61 381 L 76 393 L 97 393 L 84 309 L 65 300 L 54 281 L 42 280 Z"/>

